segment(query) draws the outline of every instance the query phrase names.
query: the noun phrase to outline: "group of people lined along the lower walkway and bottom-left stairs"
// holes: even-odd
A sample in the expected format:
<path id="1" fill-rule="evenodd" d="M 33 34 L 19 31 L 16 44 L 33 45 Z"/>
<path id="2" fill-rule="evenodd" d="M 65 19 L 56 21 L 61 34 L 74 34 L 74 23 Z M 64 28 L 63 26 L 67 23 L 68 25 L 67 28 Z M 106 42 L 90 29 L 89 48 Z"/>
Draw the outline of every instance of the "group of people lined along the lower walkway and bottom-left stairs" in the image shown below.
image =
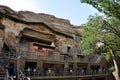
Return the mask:
<path id="1" fill-rule="evenodd" d="M 39 70 L 39 69 L 36 69 L 36 68 L 31 68 L 31 67 L 28 67 L 26 72 L 24 72 L 24 74 L 19 71 L 17 72 L 12 64 L 8 64 L 6 66 L 8 72 L 9 72 L 9 76 L 12 76 L 12 80 L 31 80 L 30 79 L 30 76 L 34 76 L 34 75 L 39 75 L 39 76 L 63 76 L 63 75 L 80 75 L 80 74 L 88 74 L 89 72 L 87 72 L 86 68 L 83 68 L 83 69 L 77 69 L 77 70 L 74 70 L 72 68 L 69 68 L 69 69 L 58 69 L 58 68 L 54 68 L 54 69 L 51 69 L 51 68 L 45 68 L 43 70 Z M 99 70 L 91 70 L 90 73 L 103 73 L 103 72 L 106 72 L 106 69 L 103 68 L 102 70 L 99 69 Z"/>

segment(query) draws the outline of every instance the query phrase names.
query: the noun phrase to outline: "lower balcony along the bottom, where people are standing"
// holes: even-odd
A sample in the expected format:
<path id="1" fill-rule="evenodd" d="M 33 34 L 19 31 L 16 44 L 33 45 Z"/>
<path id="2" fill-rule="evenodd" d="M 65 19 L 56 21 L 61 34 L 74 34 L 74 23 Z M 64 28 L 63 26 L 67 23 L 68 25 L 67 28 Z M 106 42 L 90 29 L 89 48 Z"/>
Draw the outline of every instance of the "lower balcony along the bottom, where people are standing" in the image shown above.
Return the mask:
<path id="1" fill-rule="evenodd" d="M 28 74 L 31 79 L 35 80 L 44 80 L 44 79 L 71 79 L 73 80 L 75 78 L 80 78 L 80 79 L 91 79 L 91 78 L 106 78 L 110 75 L 109 72 L 97 72 L 97 73 L 88 73 L 84 72 L 82 73 L 81 71 L 73 71 L 72 73 L 69 71 L 36 71 L 36 72 L 27 72 L 24 71 L 24 74 Z"/>

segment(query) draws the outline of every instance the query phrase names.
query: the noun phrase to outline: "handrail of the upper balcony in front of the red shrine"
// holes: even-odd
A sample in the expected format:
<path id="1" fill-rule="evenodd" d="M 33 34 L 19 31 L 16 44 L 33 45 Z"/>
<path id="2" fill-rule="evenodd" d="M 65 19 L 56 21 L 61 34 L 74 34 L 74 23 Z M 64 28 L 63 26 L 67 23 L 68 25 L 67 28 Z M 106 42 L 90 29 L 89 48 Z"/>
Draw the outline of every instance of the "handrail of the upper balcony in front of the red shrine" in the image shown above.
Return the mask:
<path id="1" fill-rule="evenodd" d="M 84 59 L 80 59 L 80 58 L 75 58 L 73 57 L 69 57 L 69 56 L 64 56 L 64 55 L 45 55 L 44 52 L 39 52 L 39 53 L 35 53 L 35 52 L 29 52 L 29 51 L 20 51 L 18 56 L 24 56 L 24 57 L 32 57 L 32 58 L 39 58 L 39 59 L 44 59 L 44 60 L 51 60 L 51 61 L 60 61 L 60 62 L 86 62 L 85 58 Z"/>

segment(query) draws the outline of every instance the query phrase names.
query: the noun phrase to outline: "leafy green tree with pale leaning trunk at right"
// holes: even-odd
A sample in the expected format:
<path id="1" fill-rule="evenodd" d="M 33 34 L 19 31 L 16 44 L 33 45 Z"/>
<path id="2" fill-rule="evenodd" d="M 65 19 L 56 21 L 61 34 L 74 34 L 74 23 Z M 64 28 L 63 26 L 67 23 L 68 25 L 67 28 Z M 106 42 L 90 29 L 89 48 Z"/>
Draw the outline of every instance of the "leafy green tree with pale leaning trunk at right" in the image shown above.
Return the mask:
<path id="1" fill-rule="evenodd" d="M 114 21 L 114 22 L 113 22 Z M 83 53 L 98 53 L 112 59 L 117 73 L 115 77 L 119 78 L 119 69 L 116 60 L 120 58 L 120 38 L 116 35 L 119 30 L 119 20 L 116 18 L 104 19 L 101 16 L 92 16 L 88 22 L 83 25 L 83 39 L 80 42 Z M 114 29 L 113 29 L 113 26 Z M 102 46 L 96 46 L 96 43 L 103 43 Z M 117 79 L 116 80 L 119 80 Z"/>

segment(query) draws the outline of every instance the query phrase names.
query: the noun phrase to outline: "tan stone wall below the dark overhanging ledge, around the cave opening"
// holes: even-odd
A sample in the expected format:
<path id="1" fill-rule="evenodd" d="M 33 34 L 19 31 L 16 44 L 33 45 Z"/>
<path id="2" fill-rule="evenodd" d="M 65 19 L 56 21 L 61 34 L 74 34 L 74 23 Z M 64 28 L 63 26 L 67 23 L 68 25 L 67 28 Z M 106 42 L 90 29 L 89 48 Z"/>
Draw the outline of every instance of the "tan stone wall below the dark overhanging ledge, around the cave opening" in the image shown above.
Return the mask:
<path id="1" fill-rule="evenodd" d="M 43 39 L 49 39 L 54 42 L 54 45 L 56 46 L 56 50 L 60 51 L 61 53 L 67 53 L 67 47 L 71 47 L 71 52 L 75 49 L 79 49 L 78 40 L 76 42 L 75 39 L 78 38 L 71 38 L 67 37 L 65 35 L 55 33 L 53 32 L 49 27 L 47 27 L 45 24 L 24 24 L 20 22 L 15 22 L 10 19 L 3 19 L 2 24 L 6 26 L 5 28 L 5 39 L 8 41 L 9 45 L 13 46 L 14 48 L 19 46 L 19 40 L 17 39 L 17 36 L 19 37 L 20 32 L 28 33 L 29 35 L 33 35 L 36 38 L 43 38 Z M 33 31 L 36 31 L 37 33 L 33 33 L 30 31 L 27 31 L 25 29 L 31 29 Z M 63 28 L 64 29 L 64 28 Z M 46 35 L 42 35 L 40 33 L 44 33 Z M 9 37 L 11 36 L 11 37 Z M 51 38 L 49 37 L 51 36 Z M 79 37 L 79 36 L 78 36 Z"/>

